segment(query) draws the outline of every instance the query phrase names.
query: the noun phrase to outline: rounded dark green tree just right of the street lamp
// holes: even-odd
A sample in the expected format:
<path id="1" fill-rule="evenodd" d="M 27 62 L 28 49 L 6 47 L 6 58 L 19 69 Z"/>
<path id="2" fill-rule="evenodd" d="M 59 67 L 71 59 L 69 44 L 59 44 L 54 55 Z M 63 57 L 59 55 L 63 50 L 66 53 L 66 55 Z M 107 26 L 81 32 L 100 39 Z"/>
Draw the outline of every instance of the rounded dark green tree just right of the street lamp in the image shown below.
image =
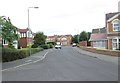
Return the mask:
<path id="1" fill-rule="evenodd" d="M 34 46 L 38 47 L 40 45 L 44 45 L 46 42 L 46 36 L 43 32 L 37 32 L 34 37 Z"/>

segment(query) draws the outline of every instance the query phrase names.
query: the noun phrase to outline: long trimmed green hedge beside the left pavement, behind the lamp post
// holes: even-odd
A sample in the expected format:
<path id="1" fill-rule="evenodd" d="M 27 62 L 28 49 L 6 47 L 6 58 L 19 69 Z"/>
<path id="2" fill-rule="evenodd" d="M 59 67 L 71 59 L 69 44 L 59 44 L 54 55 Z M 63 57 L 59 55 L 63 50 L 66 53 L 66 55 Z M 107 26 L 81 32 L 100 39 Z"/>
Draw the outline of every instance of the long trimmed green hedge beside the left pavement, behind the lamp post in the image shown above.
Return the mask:
<path id="1" fill-rule="evenodd" d="M 31 48 L 31 54 L 42 51 L 42 48 Z M 29 56 L 29 49 L 2 49 L 2 62 L 14 61 Z"/>

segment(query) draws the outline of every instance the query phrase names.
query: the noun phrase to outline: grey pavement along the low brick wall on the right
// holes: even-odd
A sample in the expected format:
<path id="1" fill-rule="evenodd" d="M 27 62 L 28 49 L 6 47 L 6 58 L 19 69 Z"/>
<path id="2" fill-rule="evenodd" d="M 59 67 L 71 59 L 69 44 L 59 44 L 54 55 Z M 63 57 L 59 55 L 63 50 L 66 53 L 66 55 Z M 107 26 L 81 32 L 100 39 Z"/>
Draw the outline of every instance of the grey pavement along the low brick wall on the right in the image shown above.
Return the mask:
<path id="1" fill-rule="evenodd" d="M 105 61 L 109 61 L 109 62 L 113 62 L 113 63 L 118 64 L 118 57 L 103 55 L 103 54 L 97 54 L 97 53 L 82 50 L 78 47 L 76 47 L 75 49 L 81 54 L 88 55 L 88 56 L 91 56 L 91 57 L 99 58 L 101 60 L 105 60 Z"/>

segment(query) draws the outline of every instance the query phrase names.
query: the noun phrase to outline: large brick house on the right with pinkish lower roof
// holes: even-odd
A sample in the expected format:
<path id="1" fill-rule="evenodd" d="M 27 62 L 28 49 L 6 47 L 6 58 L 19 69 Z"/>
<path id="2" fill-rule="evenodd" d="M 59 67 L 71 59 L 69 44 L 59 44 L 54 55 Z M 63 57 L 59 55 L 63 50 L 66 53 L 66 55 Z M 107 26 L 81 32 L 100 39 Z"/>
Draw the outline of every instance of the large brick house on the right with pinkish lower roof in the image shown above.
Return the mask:
<path id="1" fill-rule="evenodd" d="M 120 45 L 120 13 L 108 13 L 105 18 L 106 27 L 93 29 L 90 37 L 95 48 L 115 50 Z"/>

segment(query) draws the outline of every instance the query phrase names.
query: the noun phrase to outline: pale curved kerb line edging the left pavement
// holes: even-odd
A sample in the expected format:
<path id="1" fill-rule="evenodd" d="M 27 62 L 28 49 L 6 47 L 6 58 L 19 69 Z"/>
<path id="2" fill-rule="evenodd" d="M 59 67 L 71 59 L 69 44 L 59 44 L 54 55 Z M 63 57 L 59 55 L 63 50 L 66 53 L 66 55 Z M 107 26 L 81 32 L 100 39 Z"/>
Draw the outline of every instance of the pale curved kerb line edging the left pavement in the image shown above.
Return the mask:
<path id="1" fill-rule="evenodd" d="M 11 70 L 11 69 L 15 69 L 15 68 L 18 68 L 18 67 L 21 67 L 21 66 L 29 65 L 29 64 L 31 64 L 31 63 L 39 62 L 39 61 L 43 60 L 43 59 L 46 57 L 47 54 L 48 54 L 48 51 L 43 55 L 43 57 L 41 57 L 41 59 L 38 59 L 38 60 L 33 61 L 33 62 L 25 63 L 25 64 L 22 64 L 22 65 L 18 65 L 18 66 L 12 67 L 12 68 L 3 69 L 3 70 L 1 70 L 1 71 L 9 71 L 9 70 Z M 30 60 L 29 60 L 29 61 L 30 61 Z"/>

